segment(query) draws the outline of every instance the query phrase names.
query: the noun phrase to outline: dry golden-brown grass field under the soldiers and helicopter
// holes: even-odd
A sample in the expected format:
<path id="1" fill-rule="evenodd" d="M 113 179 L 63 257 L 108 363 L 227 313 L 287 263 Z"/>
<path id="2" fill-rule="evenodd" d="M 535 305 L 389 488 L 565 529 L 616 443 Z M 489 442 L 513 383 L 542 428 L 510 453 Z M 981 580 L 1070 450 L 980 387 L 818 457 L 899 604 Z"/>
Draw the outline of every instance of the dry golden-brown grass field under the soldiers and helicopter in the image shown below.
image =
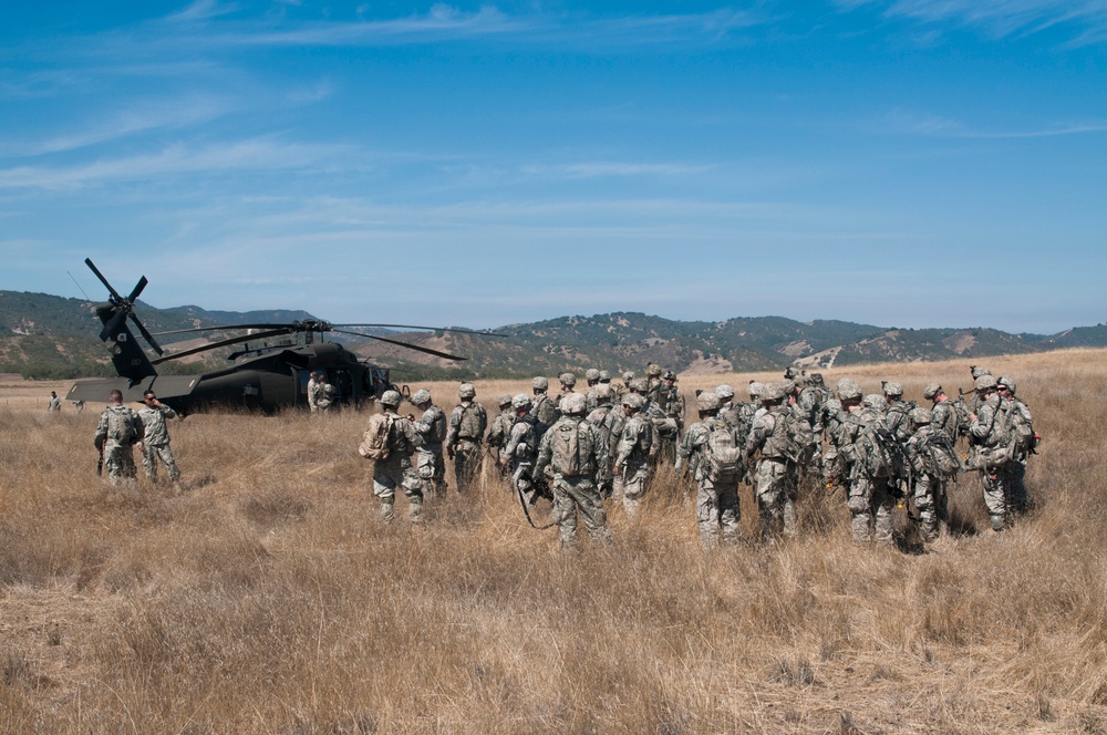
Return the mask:
<path id="1" fill-rule="evenodd" d="M 179 493 L 113 489 L 100 406 L 0 381 L 0 732 L 1107 733 L 1107 352 L 983 362 L 1045 437 L 1034 507 L 993 534 L 966 476 L 924 553 L 856 545 L 823 488 L 800 538 L 704 552 L 672 474 L 577 556 L 490 472 L 385 525 L 356 412 L 189 416 Z M 919 400 L 968 368 L 826 375 Z"/>

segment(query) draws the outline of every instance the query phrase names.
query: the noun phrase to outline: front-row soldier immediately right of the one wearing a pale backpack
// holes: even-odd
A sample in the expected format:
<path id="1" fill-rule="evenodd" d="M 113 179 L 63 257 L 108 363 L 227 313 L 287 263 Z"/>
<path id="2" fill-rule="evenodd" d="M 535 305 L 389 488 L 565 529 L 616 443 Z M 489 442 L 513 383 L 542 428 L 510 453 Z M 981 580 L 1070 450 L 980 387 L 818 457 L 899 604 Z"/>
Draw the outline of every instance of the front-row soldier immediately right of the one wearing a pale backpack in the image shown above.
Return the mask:
<path id="1" fill-rule="evenodd" d="M 796 535 L 795 507 L 787 510 L 797 493 L 793 467 L 799 453 L 788 431 L 788 422 L 793 420 L 787 403 L 789 387 L 792 383 L 788 381 L 765 386 L 762 404 L 766 411 L 754 420 L 746 437 L 747 460 L 752 463 L 761 452 L 755 472 L 755 491 L 763 539 L 780 534 Z"/>

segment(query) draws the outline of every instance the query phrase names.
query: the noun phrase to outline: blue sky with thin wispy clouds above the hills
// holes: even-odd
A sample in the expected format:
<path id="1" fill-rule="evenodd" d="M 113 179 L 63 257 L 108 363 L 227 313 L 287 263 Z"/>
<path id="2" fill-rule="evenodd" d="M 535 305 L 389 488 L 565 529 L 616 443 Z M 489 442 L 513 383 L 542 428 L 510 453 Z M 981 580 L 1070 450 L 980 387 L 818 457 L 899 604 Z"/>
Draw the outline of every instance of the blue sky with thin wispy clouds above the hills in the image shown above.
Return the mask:
<path id="1" fill-rule="evenodd" d="M 1107 1 L 7 3 L 0 288 L 1107 321 Z"/>

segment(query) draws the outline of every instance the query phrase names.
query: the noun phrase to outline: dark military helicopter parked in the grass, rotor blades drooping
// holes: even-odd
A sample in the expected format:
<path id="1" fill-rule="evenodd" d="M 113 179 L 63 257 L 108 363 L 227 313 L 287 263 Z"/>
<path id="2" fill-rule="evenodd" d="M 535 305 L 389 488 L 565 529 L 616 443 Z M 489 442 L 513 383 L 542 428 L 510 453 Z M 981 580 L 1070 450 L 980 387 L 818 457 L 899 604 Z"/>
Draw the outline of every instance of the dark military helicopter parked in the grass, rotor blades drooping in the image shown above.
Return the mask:
<path id="1" fill-rule="evenodd" d="M 77 381 L 65 396 L 69 401 L 107 401 L 111 392 L 117 389 L 123 392 L 124 401 L 138 402 L 145 391 L 153 390 L 159 401 L 182 413 L 193 413 L 211 406 L 242 407 L 272 413 L 286 407 L 307 406 L 308 380 L 312 372 L 318 371 L 323 373 L 337 389 L 335 400 L 339 404 L 361 406 L 380 397 L 384 391 L 395 390 L 407 395 L 410 390 L 406 385 L 399 386 L 393 383 L 386 368 L 360 360 L 356 354 L 337 342 L 324 341 L 323 334 L 327 332 L 397 344 L 447 360 L 465 360 L 465 358 L 385 337 L 350 331 L 346 328 L 434 329 L 495 335 L 490 332 L 412 324 L 332 324 L 313 319 L 284 324 L 226 324 L 151 333 L 135 314 L 135 300 L 146 288 L 148 282 L 146 277 L 143 276 L 131 293 L 124 297 L 107 282 L 91 259 L 85 258 L 84 262 L 110 293 L 108 300 L 97 304 L 95 310 L 96 317 L 103 323 L 100 339 L 108 345 L 112 364 L 118 376 Z M 151 360 L 147 356 L 132 333 L 127 320 L 134 323 L 143 339 L 158 354 L 156 359 Z M 260 331 L 169 354 L 166 354 L 155 339 L 155 334 L 225 330 Z M 281 339 L 276 340 L 276 338 Z M 275 340 L 276 343 L 270 344 L 269 340 Z M 223 370 L 199 375 L 159 375 L 155 368 L 170 360 L 232 344 L 241 344 L 242 349 L 228 356 L 234 364 Z"/>

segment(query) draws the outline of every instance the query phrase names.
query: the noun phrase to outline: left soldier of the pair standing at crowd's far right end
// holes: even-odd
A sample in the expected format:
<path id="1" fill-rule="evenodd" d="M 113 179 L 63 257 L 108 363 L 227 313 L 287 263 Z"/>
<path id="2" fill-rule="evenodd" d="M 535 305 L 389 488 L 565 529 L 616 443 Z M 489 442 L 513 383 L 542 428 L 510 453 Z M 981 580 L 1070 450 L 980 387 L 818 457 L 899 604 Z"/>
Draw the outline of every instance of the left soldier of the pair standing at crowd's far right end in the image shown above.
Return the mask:
<path id="1" fill-rule="evenodd" d="M 1012 484 L 1012 458 L 1003 427 L 1003 414 L 1008 406 L 995 390 L 996 380 L 992 375 L 977 377 L 973 389 L 979 413 L 969 416 L 969 466 L 981 470 L 992 530 L 1002 531 L 1006 527 Z"/>

